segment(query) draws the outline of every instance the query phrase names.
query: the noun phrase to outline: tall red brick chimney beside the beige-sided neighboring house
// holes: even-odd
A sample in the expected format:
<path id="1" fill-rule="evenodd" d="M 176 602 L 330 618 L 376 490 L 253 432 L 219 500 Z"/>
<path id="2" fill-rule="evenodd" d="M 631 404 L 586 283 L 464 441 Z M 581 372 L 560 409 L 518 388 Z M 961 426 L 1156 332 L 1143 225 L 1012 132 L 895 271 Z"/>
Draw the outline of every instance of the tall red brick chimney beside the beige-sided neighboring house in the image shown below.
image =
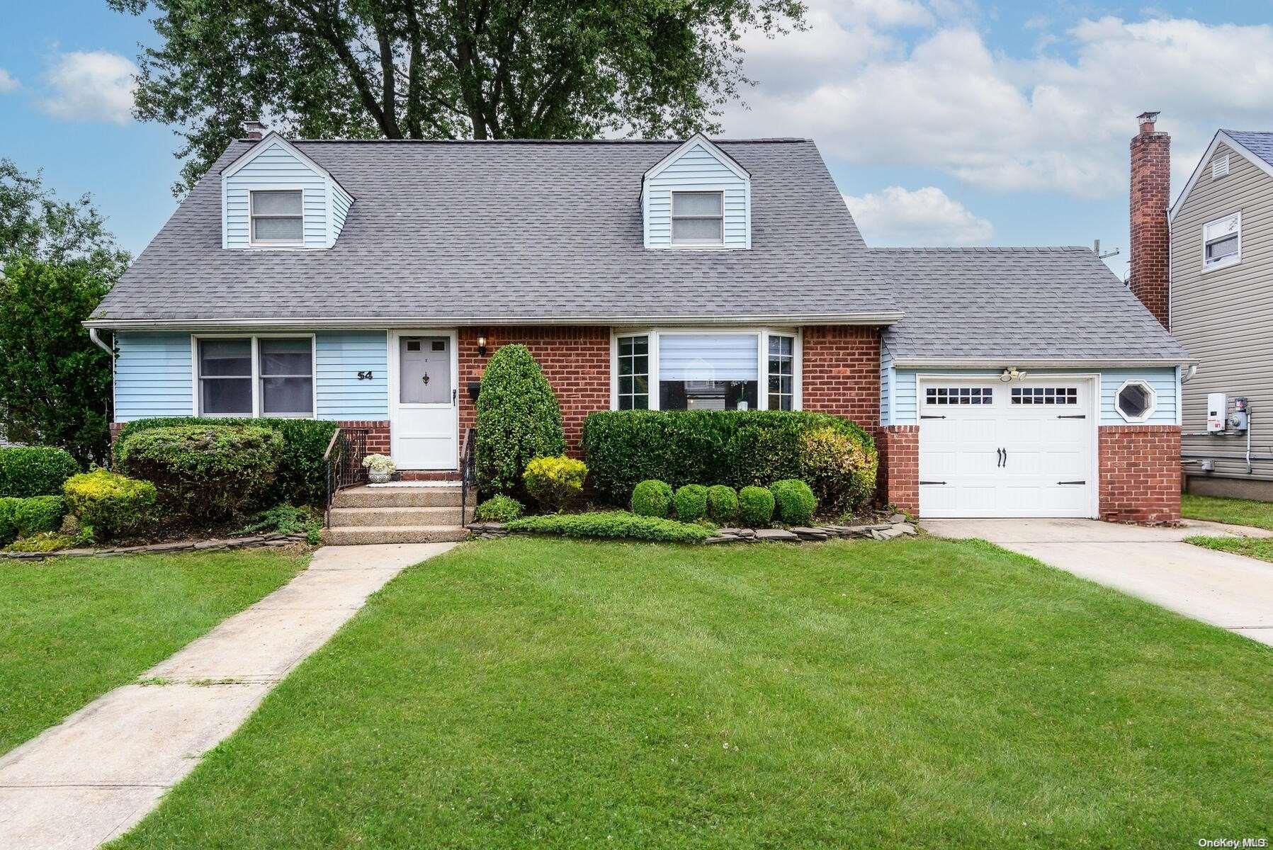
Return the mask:
<path id="1" fill-rule="evenodd" d="M 1132 294 L 1170 330 L 1171 136 L 1155 131 L 1157 118 L 1157 112 L 1138 115 L 1141 132 L 1132 139 Z"/>

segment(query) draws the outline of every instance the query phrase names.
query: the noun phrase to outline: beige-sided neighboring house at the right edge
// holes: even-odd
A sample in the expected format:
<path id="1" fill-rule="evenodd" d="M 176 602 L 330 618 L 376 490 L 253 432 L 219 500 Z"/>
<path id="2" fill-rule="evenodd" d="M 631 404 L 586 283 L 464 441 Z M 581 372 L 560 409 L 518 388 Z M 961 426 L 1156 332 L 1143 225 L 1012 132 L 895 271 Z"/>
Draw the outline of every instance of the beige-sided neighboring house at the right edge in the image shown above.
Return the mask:
<path id="1" fill-rule="evenodd" d="M 1181 393 L 1188 487 L 1273 500 L 1273 132 L 1216 132 L 1165 216 L 1171 143 L 1157 135 L 1146 176 L 1171 246 L 1157 312 L 1200 359 Z"/>

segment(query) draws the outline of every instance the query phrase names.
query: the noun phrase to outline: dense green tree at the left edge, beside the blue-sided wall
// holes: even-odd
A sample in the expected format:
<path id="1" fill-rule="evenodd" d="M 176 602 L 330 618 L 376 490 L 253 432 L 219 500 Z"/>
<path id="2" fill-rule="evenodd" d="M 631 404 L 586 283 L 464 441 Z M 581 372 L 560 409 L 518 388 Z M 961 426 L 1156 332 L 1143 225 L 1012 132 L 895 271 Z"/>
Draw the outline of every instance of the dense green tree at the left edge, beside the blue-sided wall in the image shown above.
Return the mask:
<path id="1" fill-rule="evenodd" d="M 85 195 L 61 201 L 37 172 L 0 159 L 0 431 L 102 462 L 111 358 L 81 322 L 120 279 L 115 246 Z"/>

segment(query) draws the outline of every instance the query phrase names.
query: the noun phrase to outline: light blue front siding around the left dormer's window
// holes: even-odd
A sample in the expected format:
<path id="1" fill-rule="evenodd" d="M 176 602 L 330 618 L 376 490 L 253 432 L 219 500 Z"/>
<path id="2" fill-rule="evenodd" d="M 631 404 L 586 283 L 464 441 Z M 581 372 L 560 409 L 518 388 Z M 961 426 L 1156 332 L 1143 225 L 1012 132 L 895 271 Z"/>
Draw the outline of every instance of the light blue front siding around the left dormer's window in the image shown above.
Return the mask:
<path id="1" fill-rule="evenodd" d="M 280 187 L 304 191 L 304 247 L 330 247 L 327 240 L 327 178 L 297 159 L 281 144 L 275 143 L 224 179 L 227 248 L 250 247 L 248 192 L 253 188 Z"/>

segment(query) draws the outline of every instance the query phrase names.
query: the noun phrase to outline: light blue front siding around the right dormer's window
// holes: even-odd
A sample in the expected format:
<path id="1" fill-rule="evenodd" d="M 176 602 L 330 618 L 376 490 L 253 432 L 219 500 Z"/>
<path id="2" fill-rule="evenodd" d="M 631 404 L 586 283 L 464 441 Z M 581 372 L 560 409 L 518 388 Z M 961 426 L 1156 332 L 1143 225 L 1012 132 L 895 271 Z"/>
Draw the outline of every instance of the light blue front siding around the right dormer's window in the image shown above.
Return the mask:
<path id="1" fill-rule="evenodd" d="M 645 183 L 645 247 L 672 244 L 672 190 L 724 192 L 724 246 L 750 246 L 751 215 L 747 181 L 703 145 L 694 145 Z"/>

